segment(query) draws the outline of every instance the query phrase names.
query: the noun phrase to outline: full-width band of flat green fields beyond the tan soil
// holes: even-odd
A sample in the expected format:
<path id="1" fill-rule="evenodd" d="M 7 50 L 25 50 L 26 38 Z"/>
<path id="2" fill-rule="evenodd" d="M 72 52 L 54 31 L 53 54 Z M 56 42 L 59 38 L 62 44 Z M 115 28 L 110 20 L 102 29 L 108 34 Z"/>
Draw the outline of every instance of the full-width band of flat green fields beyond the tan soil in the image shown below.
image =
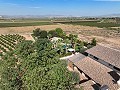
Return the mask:
<path id="1" fill-rule="evenodd" d="M 105 20 L 104 20 L 105 21 Z M 100 20 L 53 20 L 50 19 L 15 19 L 15 20 L 0 20 L 0 27 L 24 27 L 24 26 L 41 26 L 54 25 L 56 23 L 91 26 L 99 28 L 120 27 L 120 23 L 101 22 Z"/>

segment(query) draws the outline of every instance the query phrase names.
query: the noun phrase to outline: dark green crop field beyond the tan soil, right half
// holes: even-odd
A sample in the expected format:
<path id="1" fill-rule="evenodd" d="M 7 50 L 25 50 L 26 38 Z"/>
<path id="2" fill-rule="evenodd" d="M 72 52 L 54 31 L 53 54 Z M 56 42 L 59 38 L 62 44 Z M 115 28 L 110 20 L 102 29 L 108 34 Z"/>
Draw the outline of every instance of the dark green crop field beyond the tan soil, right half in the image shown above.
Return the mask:
<path id="1" fill-rule="evenodd" d="M 58 22 L 56 22 L 58 23 Z M 83 26 L 92 26 L 99 28 L 108 28 L 108 27 L 120 27 L 120 23 L 100 23 L 100 21 L 79 21 L 79 22 L 60 22 L 62 24 L 72 24 L 72 25 L 83 25 Z"/>

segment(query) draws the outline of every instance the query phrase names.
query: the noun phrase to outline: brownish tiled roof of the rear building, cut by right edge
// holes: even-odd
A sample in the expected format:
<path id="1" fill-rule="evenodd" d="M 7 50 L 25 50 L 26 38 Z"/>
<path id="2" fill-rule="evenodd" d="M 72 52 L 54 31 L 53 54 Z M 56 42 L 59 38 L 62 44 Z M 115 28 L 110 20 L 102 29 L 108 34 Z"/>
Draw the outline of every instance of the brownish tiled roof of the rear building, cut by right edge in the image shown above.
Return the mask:
<path id="1" fill-rule="evenodd" d="M 120 50 L 97 45 L 86 52 L 120 68 Z"/>

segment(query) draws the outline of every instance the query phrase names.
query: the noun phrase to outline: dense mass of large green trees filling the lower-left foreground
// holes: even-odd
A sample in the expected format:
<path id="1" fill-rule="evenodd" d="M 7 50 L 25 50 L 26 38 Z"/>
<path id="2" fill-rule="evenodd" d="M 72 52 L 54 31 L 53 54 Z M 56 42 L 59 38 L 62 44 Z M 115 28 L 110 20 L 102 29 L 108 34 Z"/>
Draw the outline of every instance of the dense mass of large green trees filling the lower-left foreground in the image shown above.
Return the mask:
<path id="1" fill-rule="evenodd" d="M 77 73 L 69 72 L 48 39 L 23 41 L 0 60 L 2 90 L 74 90 Z"/>

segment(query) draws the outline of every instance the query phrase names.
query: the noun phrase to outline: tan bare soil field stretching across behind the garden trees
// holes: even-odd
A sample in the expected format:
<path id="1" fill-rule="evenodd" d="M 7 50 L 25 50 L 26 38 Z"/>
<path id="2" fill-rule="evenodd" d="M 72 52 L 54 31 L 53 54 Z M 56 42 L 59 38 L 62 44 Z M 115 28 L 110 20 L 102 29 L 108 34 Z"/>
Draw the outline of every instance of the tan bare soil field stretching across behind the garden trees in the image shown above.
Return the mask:
<path id="1" fill-rule="evenodd" d="M 117 30 L 105 30 L 97 27 L 80 26 L 80 25 L 43 25 L 43 26 L 26 26 L 26 27 L 7 27 L 0 28 L 0 34 L 14 34 L 18 33 L 26 37 L 26 40 L 33 40 L 31 33 L 34 29 L 53 30 L 55 28 L 62 28 L 67 34 L 78 34 L 79 39 L 89 41 L 96 38 L 98 43 L 109 46 L 120 47 L 120 33 Z"/>

